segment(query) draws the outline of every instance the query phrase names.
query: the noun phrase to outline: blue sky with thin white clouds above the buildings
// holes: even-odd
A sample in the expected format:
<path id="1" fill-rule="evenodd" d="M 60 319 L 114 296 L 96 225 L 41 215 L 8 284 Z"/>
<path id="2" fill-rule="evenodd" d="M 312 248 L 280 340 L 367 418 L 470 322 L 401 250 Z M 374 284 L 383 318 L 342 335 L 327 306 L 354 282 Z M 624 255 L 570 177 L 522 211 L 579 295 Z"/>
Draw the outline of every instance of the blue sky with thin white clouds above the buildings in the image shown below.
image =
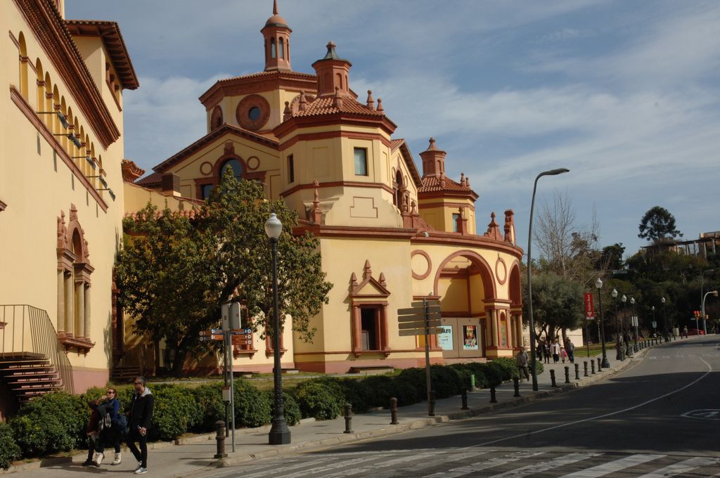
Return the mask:
<path id="1" fill-rule="evenodd" d="M 660 205 L 685 239 L 720 230 L 720 2 L 279 0 L 292 66 L 312 73 L 328 40 L 372 89 L 418 167 L 428 138 L 446 172 L 490 212 L 536 213 L 567 194 L 600 246 L 634 253 Z M 66 0 L 66 17 L 119 22 L 140 78 L 125 92 L 125 156 L 150 171 L 205 133 L 197 100 L 219 78 L 261 71 L 271 0 Z M 534 248 L 534 251 L 537 251 Z M 534 256 L 536 253 L 534 253 Z"/>

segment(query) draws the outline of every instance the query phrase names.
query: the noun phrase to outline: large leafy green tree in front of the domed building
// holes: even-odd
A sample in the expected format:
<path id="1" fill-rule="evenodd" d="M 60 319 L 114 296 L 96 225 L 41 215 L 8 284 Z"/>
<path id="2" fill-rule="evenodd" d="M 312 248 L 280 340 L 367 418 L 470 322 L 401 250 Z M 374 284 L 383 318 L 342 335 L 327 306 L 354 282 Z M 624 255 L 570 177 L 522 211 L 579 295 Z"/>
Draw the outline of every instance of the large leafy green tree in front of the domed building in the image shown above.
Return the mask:
<path id="1" fill-rule="evenodd" d="M 293 330 L 310 341 L 310 317 L 327 303 L 332 287 L 318 240 L 294 235 L 297 213 L 282 201 L 267 201 L 260 184 L 236 181 L 226 171 L 207 204 L 191 215 L 148 205 L 125 219 L 130 235 L 117 257 L 122 303 L 138 333 L 155 343 L 165 339 L 175 351 L 176 376 L 189 353 L 207 350 L 199 332 L 220 322 L 220 306 L 228 300 L 247 307 L 247 326 L 262 336 L 271 333 L 271 253 L 264 232 L 270 212 L 284 226 L 278 243 L 281 323 L 291 315 Z"/>

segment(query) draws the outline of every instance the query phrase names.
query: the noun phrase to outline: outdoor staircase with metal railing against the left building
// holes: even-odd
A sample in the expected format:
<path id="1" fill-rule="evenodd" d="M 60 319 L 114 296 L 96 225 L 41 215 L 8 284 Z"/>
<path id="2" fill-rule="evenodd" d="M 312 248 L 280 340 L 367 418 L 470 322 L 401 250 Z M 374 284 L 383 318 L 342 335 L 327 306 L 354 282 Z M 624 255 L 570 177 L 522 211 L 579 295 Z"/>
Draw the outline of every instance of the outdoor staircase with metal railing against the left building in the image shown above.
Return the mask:
<path id="1" fill-rule="evenodd" d="M 21 403 L 73 391 L 72 366 L 45 310 L 0 305 L 0 382 Z"/>

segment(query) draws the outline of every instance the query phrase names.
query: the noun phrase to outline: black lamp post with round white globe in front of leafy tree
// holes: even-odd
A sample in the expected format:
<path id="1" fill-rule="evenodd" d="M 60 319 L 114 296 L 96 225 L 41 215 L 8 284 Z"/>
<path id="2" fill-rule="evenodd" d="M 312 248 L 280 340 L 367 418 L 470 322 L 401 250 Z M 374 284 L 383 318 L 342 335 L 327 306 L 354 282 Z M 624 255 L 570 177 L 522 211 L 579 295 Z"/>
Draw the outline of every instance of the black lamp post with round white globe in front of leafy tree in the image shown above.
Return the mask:
<path id="1" fill-rule="evenodd" d="M 273 302 L 273 369 L 275 380 L 275 412 L 272 427 L 268 435 L 271 445 L 287 445 L 290 443 L 290 429 L 285 421 L 285 407 L 282 397 L 282 369 L 280 368 L 280 309 L 277 294 L 277 242 L 282 233 L 282 222 L 275 213 L 271 213 L 265 222 L 265 233 L 270 238 L 272 249 L 272 302 Z"/>

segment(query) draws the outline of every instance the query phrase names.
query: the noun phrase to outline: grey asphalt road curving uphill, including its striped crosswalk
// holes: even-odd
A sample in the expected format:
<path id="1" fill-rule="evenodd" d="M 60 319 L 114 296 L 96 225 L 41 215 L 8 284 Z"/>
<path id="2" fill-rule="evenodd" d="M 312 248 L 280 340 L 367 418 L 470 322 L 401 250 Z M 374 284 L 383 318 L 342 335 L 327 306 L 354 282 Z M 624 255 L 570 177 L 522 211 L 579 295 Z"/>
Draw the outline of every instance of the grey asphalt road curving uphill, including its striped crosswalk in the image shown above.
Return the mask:
<path id="1" fill-rule="evenodd" d="M 720 477 L 720 337 L 492 415 L 207 477 Z"/>

